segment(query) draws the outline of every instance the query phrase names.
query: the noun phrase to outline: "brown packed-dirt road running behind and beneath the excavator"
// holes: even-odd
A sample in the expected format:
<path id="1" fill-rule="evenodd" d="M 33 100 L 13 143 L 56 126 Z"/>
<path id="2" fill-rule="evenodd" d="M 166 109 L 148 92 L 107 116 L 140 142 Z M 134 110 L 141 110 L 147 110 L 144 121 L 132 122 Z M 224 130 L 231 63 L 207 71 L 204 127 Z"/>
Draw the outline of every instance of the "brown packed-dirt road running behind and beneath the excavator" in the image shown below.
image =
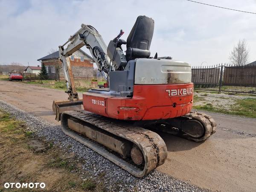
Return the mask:
<path id="1" fill-rule="evenodd" d="M 56 124 L 52 100 L 66 98 L 62 90 L 0 81 L 0 99 Z M 256 119 L 210 114 L 218 131 L 204 143 L 161 135 L 169 153 L 158 170 L 213 191 L 255 191 Z"/>

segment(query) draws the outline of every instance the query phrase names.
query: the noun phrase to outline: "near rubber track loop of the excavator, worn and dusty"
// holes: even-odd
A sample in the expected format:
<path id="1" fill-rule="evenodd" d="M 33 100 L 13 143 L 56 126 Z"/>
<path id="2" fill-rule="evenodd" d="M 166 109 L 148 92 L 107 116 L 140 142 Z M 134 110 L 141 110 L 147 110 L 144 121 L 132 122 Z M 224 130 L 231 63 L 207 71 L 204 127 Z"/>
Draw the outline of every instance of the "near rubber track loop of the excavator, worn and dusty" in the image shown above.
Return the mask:
<path id="1" fill-rule="evenodd" d="M 128 161 L 122 159 L 119 157 L 119 155 L 111 153 L 111 151 L 107 150 L 103 145 L 100 145 L 99 143 L 96 143 L 93 140 L 81 136 L 75 131 L 69 129 L 67 127 L 67 119 L 69 117 L 80 119 L 81 121 L 97 126 L 98 128 L 108 131 L 118 137 L 129 140 L 137 145 L 143 152 L 145 160 L 144 168 L 140 169 L 133 163 L 129 163 Z M 162 165 L 167 157 L 166 144 L 157 133 L 141 127 L 134 127 L 131 124 L 127 124 L 123 121 L 110 119 L 94 113 L 88 113 L 84 110 L 65 111 L 62 113 L 61 128 L 62 131 L 68 136 L 93 149 L 103 157 L 112 161 L 136 177 L 143 177 L 151 170 L 157 168 L 157 166 Z"/>

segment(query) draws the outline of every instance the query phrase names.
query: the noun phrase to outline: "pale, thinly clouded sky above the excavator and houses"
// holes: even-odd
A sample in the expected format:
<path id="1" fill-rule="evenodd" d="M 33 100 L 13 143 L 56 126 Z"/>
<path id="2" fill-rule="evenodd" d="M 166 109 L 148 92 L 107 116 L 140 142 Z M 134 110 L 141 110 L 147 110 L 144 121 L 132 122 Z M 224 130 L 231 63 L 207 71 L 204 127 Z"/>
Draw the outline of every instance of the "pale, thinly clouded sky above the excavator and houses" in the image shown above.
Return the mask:
<path id="1" fill-rule="evenodd" d="M 256 0 L 198 1 L 256 12 Z M 0 64 L 40 64 L 37 59 L 58 49 L 81 23 L 94 26 L 107 45 L 120 29 L 126 40 L 139 15 L 155 22 L 151 56 L 192 66 L 230 63 L 233 46 L 244 38 L 249 61 L 256 61 L 255 14 L 186 0 L 0 0 Z"/>

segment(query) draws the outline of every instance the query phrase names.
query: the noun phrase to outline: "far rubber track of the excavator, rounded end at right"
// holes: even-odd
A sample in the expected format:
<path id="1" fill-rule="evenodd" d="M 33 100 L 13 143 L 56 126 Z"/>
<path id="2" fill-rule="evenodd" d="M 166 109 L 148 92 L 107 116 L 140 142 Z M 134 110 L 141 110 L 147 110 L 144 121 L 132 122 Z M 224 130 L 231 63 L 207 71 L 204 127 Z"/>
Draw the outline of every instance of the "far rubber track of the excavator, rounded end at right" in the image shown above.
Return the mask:
<path id="1" fill-rule="evenodd" d="M 212 116 L 209 116 L 205 113 L 198 113 L 198 112 L 193 111 L 184 116 L 200 121 L 204 125 L 204 128 L 205 128 L 205 133 L 202 137 L 195 138 L 195 137 L 191 137 L 189 135 L 182 136 L 188 140 L 193 140 L 196 142 L 205 141 L 205 140 L 207 140 L 208 137 L 210 137 L 212 134 L 214 134 L 217 130 L 217 128 L 216 128 L 217 124 L 216 124 L 215 120 L 212 118 Z"/>

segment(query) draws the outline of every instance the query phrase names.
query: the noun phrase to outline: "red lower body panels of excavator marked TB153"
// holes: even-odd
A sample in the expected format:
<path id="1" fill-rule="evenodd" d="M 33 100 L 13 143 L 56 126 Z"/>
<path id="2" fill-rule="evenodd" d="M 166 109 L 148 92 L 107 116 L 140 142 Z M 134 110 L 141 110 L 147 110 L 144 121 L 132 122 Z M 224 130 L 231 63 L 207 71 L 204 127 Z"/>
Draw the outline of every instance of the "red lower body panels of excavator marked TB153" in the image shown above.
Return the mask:
<path id="1" fill-rule="evenodd" d="M 83 93 L 83 105 L 90 111 L 114 119 L 169 119 L 189 113 L 193 103 L 193 83 L 134 85 L 132 98 Z"/>

